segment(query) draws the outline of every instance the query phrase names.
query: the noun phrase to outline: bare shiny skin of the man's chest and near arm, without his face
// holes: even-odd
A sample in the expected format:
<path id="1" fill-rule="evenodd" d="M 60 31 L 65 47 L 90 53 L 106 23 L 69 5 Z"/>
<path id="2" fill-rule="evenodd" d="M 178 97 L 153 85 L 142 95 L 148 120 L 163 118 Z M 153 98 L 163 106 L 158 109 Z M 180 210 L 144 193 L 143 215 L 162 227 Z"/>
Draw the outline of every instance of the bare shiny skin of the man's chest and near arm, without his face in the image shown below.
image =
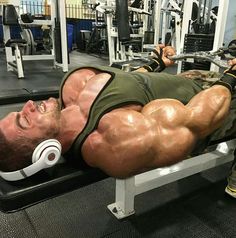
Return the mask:
<path id="1" fill-rule="evenodd" d="M 77 106 L 72 117 L 74 138 L 83 129 L 91 104 L 105 83 L 108 73 L 80 69 L 67 79 L 62 98 L 67 107 Z M 194 96 L 184 106 L 173 99 L 152 101 L 143 108 L 130 105 L 105 114 L 98 128 L 82 146 L 83 159 L 108 175 L 124 178 L 148 169 L 183 160 L 198 139 L 218 128 L 229 111 L 230 91 L 215 85 Z M 69 146 L 69 145 L 68 145 Z"/>

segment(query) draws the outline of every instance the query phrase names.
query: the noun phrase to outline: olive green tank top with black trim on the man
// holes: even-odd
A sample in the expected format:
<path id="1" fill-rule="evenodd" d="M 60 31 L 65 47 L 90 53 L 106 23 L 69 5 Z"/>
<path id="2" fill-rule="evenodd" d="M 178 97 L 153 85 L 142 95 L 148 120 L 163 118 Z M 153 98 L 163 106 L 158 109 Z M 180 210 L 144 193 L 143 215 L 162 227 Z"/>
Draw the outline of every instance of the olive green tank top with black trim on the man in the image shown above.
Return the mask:
<path id="1" fill-rule="evenodd" d="M 124 72 L 112 67 L 81 67 L 68 72 L 61 84 L 60 98 L 66 79 L 78 69 L 94 68 L 109 73 L 111 78 L 94 100 L 87 123 L 72 145 L 72 156 L 81 156 L 81 147 L 86 138 L 96 130 L 101 117 L 115 108 L 125 105 L 144 106 L 154 99 L 172 98 L 186 104 L 202 90 L 197 82 L 166 73 Z M 63 101 L 61 101 L 64 107 Z M 112 122 L 111 122 L 112 123 Z"/>

